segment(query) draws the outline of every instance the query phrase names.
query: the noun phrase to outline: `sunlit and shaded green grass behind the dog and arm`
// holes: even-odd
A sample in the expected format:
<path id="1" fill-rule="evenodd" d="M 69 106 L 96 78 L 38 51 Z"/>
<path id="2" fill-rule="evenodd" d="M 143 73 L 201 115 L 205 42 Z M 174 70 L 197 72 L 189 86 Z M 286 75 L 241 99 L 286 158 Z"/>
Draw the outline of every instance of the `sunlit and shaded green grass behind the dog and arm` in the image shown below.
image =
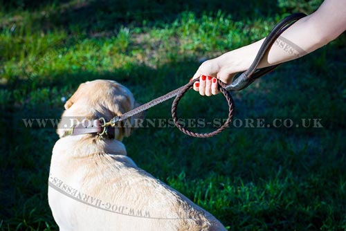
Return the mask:
<path id="1" fill-rule="evenodd" d="M 289 12 L 318 3 L 0 3 L 0 229 L 57 230 L 47 201 L 57 135 L 23 118 L 59 118 L 61 98 L 87 80 L 116 80 L 147 102 L 187 82 L 199 59 L 265 37 Z M 128 155 L 230 230 L 346 230 L 345 41 L 233 93 L 235 118 L 321 118 L 323 128 L 232 127 L 201 140 L 149 127 L 124 140 Z M 223 100 L 191 92 L 179 112 L 224 118 Z M 170 118 L 171 102 L 147 118 Z"/>

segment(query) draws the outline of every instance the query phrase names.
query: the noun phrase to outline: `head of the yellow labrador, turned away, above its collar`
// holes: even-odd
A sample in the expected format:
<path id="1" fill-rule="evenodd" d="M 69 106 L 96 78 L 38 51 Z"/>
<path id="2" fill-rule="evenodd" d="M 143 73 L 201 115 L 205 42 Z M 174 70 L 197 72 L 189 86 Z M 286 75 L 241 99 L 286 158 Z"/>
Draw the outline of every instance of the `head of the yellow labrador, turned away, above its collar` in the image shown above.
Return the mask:
<path id="1" fill-rule="evenodd" d="M 76 125 L 78 120 L 84 118 L 92 120 L 102 117 L 109 121 L 114 116 L 122 115 L 139 105 L 134 100 L 131 91 L 118 82 L 113 80 L 94 80 L 80 84 L 77 91 L 66 101 L 62 121 L 68 118 L 68 120 L 74 121 L 73 125 Z M 116 127 L 115 138 L 121 141 L 124 136 L 129 136 L 134 128 L 134 121 L 139 118 L 144 118 L 144 113 L 131 117 L 127 121 L 127 126 Z M 60 129 L 57 129 L 60 138 L 66 130 L 64 127 L 62 127 L 62 122 L 60 122 Z"/>

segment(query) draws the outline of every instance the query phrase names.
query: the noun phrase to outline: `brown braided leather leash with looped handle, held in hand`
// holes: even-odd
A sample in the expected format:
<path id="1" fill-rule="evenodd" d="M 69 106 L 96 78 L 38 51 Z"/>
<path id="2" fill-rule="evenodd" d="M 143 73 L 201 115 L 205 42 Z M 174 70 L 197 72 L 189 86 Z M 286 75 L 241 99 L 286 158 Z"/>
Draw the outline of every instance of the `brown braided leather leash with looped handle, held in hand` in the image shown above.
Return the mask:
<path id="1" fill-rule="evenodd" d="M 195 79 L 191 82 L 188 82 L 188 84 L 185 84 L 184 86 L 181 86 L 179 89 L 176 89 L 174 91 L 171 91 L 170 93 L 167 93 L 159 98 L 156 98 L 150 102 L 147 102 L 146 104 L 141 105 L 140 107 L 137 107 L 136 109 L 133 109 L 131 111 L 128 111 L 127 113 L 124 113 L 122 115 L 118 115 L 114 118 L 112 118 L 109 122 L 105 122 L 102 127 L 116 127 L 116 124 L 119 122 L 126 120 L 127 118 L 136 115 L 137 113 L 140 113 L 142 111 L 145 111 L 151 107 L 154 107 L 157 104 L 160 104 L 161 102 L 164 102 L 166 100 L 169 100 L 170 98 L 176 97 L 172 104 L 172 118 L 174 120 L 174 123 L 176 124 L 176 127 L 183 133 L 185 133 L 188 136 L 194 136 L 197 138 L 207 138 L 211 136 L 215 136 L 217 133 L 220 133 L 223 131 L 226 127 L 228 127 L 228 124 L 233 118 L 233 112 L 234 112 L 234 104 L 232 96 L 230 95 L 230 91 L 239 91 L 247 86 L 249 86 L 252 82 L 257 80 L 257 78 L 262 77 L 266 73 L 269 73 L 273 71 L 274 68 L 279 66 L 280 64 L 274 65 L 274 66 L 268 66 L 266 68 L 257 69 L 258 64 L 260 64 L 260 61 L 264 57 L 266 51 L 271 47 L 271 45 L 274 43 L 274 41 L 281 35 L 281 33 L 284 32 L 289 26 L 291 26 L 295 21 L 298 21 L 298 19 L 301 19 L 302 17 L 305 17 L 306 15 L 302 13 L 295 13 L 293 15 L 289 15 L 288 17 L 282 19 L 274 28 L 271 30 L 271 33 L 268 34 L 266 39 L 264 39 L 264 42 L 258 51 L 253 64 L 251 64 L 250 68 L 248 68 L 247 71 L 239 75 L 237 79 L 229 84 L 226 85 L 224 82 L 221 82 L 221 80 L 218 80 L 219 84 L 219 90 L 222 94 L 224 94 L 229 111 L 228 111 L 228 118 L 224 124 L 216 129 L 215 131 L 212 131 L 210 133 L 195 133 L 192 131 L 189 131 L 188 129 L 185 129 L 181 123 L 179 123 L 177 115 L 176 115 L 176 109 L 178 107 L 179 100 L 183 97 L 183 95 L 192 88 L 194 82 L 198 81 L 198 79 Z"/>

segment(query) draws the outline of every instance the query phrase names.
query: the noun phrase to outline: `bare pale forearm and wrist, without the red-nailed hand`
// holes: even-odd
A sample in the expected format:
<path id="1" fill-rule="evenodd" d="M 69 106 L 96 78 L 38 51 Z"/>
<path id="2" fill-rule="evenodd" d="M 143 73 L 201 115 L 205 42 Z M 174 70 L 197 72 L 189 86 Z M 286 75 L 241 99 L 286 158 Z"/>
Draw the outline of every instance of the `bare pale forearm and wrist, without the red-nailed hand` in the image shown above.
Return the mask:
<path id="1" fill-rule="evenodd" d="M 304 17 L 288 28 L 275 41 L 268 51 L 260 68 L 287 62 L 302 57 L 334 40 L 346 28 L 344 11 L 345 0 L 328 0 L 313 14 Z M 333 14 L 331 16 L 331 14 Z M 220 69 L 229 68 L 232 72 L 246 71 L 257 55 L 264 39 L 220 57 L 217 62 Z"/>

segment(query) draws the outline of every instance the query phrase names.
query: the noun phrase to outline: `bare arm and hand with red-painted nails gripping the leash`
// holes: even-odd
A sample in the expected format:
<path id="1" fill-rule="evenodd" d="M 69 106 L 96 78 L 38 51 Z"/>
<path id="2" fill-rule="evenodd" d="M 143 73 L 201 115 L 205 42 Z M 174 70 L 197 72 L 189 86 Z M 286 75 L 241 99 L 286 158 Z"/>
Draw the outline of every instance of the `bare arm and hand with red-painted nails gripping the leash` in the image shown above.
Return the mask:
<path id="1" fill-rule="evenodd" d="M 259 68 L 287 62 L 325 46 L 346 30 L 346 0 L 325 0 L 313 14 L 304 17 L 275 41 Z M 217 81 L 232 82 L 236 73 L 246 71 L 264 39 L 232 50 L 199 66 L 193 78 L 201 77 L 194 90 L 201 95 L 219 93 Z"/>

